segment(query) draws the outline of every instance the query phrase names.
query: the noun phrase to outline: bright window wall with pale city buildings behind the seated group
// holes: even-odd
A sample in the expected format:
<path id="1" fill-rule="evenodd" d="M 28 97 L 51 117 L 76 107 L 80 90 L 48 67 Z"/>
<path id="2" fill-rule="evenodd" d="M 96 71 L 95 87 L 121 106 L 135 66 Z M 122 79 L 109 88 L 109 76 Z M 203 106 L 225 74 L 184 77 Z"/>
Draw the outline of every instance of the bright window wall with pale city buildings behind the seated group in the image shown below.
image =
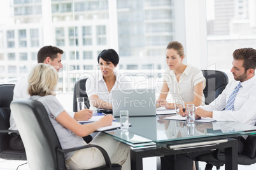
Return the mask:
<path id="1" fill-rule="evenodd" d="M 57 46 L 64 50 L 57 98 L 66 110 L 75 82 L 99 69 L 103 49 L 117 51 L 118 72 L 139 88 L 160 90 L 170 41 L 183 44 L 184 63 L 221 70 L 230 81 L 233 51 L 256 47 L 251 0 L 5 0 L 0 13 L 0 84 L 27 74 L 42 46 Z"/>

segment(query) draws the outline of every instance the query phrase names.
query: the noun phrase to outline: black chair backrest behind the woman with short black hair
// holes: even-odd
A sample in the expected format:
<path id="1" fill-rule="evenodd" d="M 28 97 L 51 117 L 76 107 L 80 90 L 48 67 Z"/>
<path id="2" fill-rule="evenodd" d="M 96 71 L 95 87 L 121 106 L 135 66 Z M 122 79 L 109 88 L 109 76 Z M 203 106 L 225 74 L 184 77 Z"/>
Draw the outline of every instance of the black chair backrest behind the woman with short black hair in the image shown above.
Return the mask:
<path id="1" fill-rule="evenodd" d="M 73 94 L 73 112 L 77 112 L 77 101 L 76 98 L 83 97 L 85 98 L 85 105 L 87 108 L 90 108 L 90 102 L 89 98 L 86 93 L 85 89 L 85 82 L 86 79 L 80 79 L 79 81 L 76 81 L 75 88 L 74 88 L 74 94 Z"/>

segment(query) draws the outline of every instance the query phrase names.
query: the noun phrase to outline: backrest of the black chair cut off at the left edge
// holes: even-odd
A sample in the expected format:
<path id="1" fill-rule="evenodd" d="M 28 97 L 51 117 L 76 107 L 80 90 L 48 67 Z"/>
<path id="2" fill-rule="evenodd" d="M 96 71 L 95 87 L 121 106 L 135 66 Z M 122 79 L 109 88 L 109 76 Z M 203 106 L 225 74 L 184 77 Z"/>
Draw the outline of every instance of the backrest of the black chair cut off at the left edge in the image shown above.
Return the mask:
<path id="1" fill-rule="evenodd" d="M 0 130 L 10 128 L 10 103 L 13 100 L 13 89 L 15 84 L 0 85 Z M 0 133 L 0 150 L 9 150 L 10 135 Z"/>

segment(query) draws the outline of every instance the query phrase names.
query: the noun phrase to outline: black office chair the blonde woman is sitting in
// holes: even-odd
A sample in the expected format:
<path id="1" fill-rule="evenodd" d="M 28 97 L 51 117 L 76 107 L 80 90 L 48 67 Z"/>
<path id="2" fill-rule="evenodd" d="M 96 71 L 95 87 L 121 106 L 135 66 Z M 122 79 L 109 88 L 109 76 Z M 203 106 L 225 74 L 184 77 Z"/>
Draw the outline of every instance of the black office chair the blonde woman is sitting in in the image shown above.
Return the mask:
<path id="1" fill-rule="evenodd" d="M 99 149 L 106 162 L 106 166 L 94 168 L 95 170 L 121 169 L 120 165 L 111 164 L 106 151 L 97 145 L 62 149 L 59 138 L 41 102 L 31 99 L 18 99 L 11 102 L 11 111 L 24 142 L 30 169 L 64 170 L 66 169 L 64 153 L 90 147 Z"/>

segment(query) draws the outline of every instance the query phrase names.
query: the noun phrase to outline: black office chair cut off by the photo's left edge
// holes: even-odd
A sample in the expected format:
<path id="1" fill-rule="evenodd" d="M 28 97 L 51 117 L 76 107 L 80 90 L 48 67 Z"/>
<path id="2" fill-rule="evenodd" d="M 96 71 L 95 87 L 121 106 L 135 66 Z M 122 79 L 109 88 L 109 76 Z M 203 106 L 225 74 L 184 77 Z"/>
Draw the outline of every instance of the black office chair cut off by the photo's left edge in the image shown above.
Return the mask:
<path id="1" fill-rule="evenodd" d="M 11 150 L 10 134 L 18 131 L 10 128 L 10 103 L 13 100 L 14 84 L 0 85 L 0 158 L 8 160 L 27 160 L 25 152 Z"/>

